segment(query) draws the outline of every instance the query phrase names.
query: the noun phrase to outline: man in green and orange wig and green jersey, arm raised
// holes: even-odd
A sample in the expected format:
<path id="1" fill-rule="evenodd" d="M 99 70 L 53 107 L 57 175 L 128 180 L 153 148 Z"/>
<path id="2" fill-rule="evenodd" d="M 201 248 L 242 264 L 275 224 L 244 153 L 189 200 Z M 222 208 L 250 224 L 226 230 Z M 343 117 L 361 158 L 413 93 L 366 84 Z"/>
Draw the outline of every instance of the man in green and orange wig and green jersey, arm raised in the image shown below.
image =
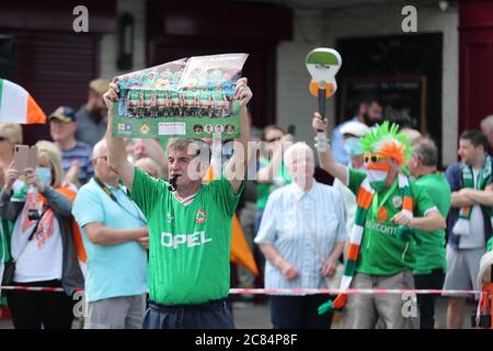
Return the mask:
<path id="1" fill-rule="evenodd" d="M 388 123 L 367 133 L 360 145 L 366 173 L 334 161 L 326 137 L 328 121 L 316 113 L 312 126 L 321 167 L 357 195 L 355 226 L 349 238 L 341 290 L 413 288 L 414 252 L 410 228 L 445 228 L 445 219 L 426 191 L 410 184 L 401 169 L 411 148 L 398 126 Z M 412 328 L 417 317 L 413 296 L 400 294 L 340 294 L 319 313 L 344 309 L 346 328 Z"/>

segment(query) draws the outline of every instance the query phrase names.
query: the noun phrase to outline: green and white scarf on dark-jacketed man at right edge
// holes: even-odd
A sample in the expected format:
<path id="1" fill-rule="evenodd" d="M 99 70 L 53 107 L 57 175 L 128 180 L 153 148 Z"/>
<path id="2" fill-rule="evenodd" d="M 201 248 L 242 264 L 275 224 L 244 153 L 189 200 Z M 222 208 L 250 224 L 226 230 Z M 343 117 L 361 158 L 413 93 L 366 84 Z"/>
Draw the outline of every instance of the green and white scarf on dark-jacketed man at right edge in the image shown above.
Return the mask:
<path id="1" fill-rule="evenodd" d="M 483 163 L 483 167 L 478 173 L 478 179 L 475 182 L 475 189 L 484 190 L 488 184 L 492 182 L 492 166 L 491 166 L 491 157 L 486 156 L 486 159 Z M 474 179 L 472 169 L 468 165 L 462 165 L 462 188 L 474 189 Z M 471 213 L 473 206 L 462 206 L 459 212 L 459 219 L 456 222 L 456 225 L 452 228 L 452 233 L 455 235 L 463 235 L 468 236 L 471 233 Z M 493 211 L 489 208 L 489 214 L 491 217 L 491 224 L 493 226 Z"/>

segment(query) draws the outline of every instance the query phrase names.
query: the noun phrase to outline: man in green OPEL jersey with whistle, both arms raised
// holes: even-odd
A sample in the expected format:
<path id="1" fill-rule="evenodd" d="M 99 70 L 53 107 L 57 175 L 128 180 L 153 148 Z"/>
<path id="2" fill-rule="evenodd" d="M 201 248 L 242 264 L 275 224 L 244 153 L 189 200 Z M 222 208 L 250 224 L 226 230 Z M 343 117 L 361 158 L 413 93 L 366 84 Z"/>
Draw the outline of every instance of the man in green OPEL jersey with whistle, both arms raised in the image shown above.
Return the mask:
<path id="1" fill-rule="evenodd" d="M 129 163 L 122 138 L 112 137 L 113 120 L 106 133 L 110 165 L 121 176 L 131 197 L 149 223 L 149 309 L 144 328 L 233 328 L 226 298 L 230 283 L 230 241 L 234 208 L 243 186 L 250 135 L 246 103 L 252 92 L 246 79 L 238 80 L 234 98 L 240 103 L 241 137 L 223 176 L 202 184 L 206 167 L 198 174 L 190 149 L 202 140 L 171 139 L 168 144 L 171 184 L 154 180 Z M 118 87 L 112 83 L 104 95 L 112 109 Z M 111 113 L 110 113 L 111 114 Z M 194 150 L 194 151 L 195 151 Z M 195 176 L 195 177 L 193 177 Z M 198 177 L 196 177 L 198 176 Z M 175 188 L 175 192 L 170 189 Z"/>

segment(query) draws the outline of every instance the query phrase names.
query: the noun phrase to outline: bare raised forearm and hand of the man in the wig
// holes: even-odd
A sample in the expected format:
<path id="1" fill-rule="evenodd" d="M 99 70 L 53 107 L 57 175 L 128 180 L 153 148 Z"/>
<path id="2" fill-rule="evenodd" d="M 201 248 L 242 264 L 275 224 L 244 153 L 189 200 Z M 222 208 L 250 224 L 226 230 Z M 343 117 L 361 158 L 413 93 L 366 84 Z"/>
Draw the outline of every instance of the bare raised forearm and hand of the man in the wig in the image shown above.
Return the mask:
<path id="1" fill-rule="evenodd" d="M 332 177 L 337 178 L 343 184 L 347 184 L 347 167 L 337 163 L 332 157 L 332 152 L 329 145 L 329 139 L 326 137 L 328 132 L 328 121 L 322 118 L 322 116 L 316 112 L 311 126 L 316 133 L 320 131 L 323 132 L 323 138 L 319 139 L 317 137 L 317 152 L 319 155 L 320 167 L 332 174 Z"/>

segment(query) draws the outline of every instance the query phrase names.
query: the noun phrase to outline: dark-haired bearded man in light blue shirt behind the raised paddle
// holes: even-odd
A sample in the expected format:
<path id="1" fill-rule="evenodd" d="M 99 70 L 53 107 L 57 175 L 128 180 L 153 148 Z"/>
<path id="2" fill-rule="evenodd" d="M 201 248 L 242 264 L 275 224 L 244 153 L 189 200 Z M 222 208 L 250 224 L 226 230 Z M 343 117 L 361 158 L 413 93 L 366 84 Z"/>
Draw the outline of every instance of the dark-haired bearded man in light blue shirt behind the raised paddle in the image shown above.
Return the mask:
<path id="1" fill-rule="evenodd" d="M 344 126 L 348 122 L 360 122 L 366 124 L 368 127 L 372 127 L 375 124 L 381 121 L 382 116 L 382 107 L 380 103 L 372 98 L 368 98 L 363 100 L 359 103 L 357 115 L 351 118 L 349 121 L 343 122 L 337 125 L 332 132 L 331 136 L 331 149 L 332 157 L 335 161 L 342 165 L 349 165 L 349 155 L 344 148 L 344 138 L 341 133 L 341 127 Z"/>

